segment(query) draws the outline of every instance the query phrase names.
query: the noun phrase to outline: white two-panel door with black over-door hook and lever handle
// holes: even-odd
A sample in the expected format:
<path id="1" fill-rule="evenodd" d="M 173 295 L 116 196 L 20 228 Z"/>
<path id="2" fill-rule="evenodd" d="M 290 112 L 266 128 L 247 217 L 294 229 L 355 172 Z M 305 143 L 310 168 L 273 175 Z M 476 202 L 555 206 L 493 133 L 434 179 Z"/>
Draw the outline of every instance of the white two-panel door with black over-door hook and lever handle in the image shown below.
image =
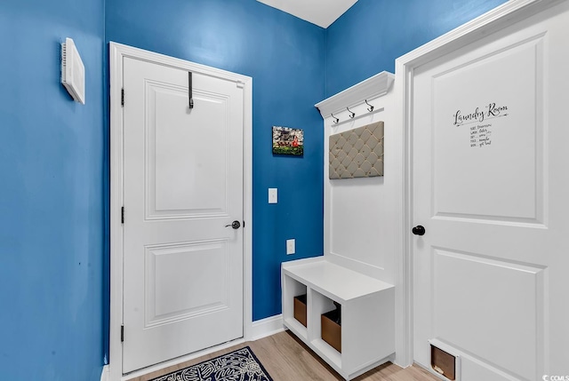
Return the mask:
<path id="1" fill-rule="evenodd" d="M 243 337 L 243 88 L 124 59 L 123 371 Z"/>

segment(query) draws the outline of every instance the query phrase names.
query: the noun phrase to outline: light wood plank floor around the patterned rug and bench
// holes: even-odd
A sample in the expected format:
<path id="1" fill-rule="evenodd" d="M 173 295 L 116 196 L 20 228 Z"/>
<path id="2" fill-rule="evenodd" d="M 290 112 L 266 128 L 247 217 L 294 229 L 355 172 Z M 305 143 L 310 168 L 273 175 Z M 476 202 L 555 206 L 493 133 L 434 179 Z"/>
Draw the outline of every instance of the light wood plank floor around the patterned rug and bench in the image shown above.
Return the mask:
<path id="1" fill-rule="evenodd" d="M 154 377 L 163 376 L 174 370 L 183 369 L 201 361 L 212 359 L 221 354 L 235 351 L 249 345 L 263 367 L 267 369 L 274 381 L 336 381 L 343 380 L 332 368 L 322 361 L 315 353 L 301 343 L 288 331 L 247 342 L 231 348 L 212 353 L 192 361 L 184 362 L 174 367 L 159 370 L 148 375 L 132 378 L 132 381 L 148 381 Z M 401 369 L 397 365 L 387 363 L 372 369 L 356 381 L 440 381 L 426 370 L 413 366 Z"/>

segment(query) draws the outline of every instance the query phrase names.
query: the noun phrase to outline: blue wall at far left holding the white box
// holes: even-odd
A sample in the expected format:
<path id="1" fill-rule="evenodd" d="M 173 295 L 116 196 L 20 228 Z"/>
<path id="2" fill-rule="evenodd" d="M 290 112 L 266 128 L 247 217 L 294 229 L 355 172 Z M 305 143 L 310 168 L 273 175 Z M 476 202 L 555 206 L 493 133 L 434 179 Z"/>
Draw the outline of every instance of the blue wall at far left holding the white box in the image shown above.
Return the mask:
<path id="1" fill-rule="evenodd" d="M 99 380 L 103 0 L 0 3 L 0 378 Z M 86 101 L 60 84 L 60 43 Z"/>

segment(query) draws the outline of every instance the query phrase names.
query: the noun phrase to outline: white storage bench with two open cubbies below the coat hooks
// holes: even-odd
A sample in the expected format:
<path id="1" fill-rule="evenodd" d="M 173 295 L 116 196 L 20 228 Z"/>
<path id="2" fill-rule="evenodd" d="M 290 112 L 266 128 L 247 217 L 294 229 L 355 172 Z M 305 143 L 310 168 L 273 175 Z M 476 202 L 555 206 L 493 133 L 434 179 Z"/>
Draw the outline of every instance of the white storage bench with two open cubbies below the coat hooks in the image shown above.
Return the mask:
<path id="1" fill-rule="evenodd" d="M 284 325 L 347 380 L 395 353 L 395 288 L 325 258 L 282 265 Z M 294 297 L 307 294 L 307 326 L 294 319 Z M 341 306 L 341 351 L 322 338 L 322 315 Z"/>

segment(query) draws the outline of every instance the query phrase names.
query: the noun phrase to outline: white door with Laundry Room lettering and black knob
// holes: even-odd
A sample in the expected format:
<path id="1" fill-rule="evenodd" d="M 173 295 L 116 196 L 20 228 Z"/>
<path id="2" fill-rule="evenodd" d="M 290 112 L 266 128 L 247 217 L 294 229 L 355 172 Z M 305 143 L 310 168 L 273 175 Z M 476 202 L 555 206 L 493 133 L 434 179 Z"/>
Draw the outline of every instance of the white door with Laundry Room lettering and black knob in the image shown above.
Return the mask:
<path id="1" fill-rule="evenodd" d="M 462 381 L 569 375 L 568 25 L 564 2 L 413 74 L 413 357 Z"/>

